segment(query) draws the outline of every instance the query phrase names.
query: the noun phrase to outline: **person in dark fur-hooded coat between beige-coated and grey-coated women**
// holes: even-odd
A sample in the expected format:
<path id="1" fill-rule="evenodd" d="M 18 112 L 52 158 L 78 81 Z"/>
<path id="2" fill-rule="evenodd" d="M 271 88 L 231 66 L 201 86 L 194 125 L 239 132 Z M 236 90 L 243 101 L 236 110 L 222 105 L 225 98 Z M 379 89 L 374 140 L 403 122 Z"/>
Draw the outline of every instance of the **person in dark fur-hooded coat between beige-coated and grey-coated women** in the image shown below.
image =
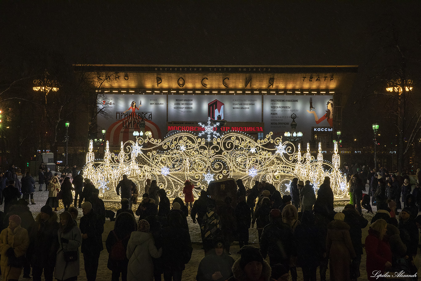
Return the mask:
<path id="1" fill-rule="evenodd" d="M 41 208 L 35 219 L 35 224 L 29 230 L 29 248 L 27 259 L 32 266 L 32 278 L 41 281 L 44 270 L 45 281 L 53 281 L 53 272 L 56 265 L 56 255 L 59 249 L 57 231 L 59 223 L 57 214 L 49 205 Z"/>

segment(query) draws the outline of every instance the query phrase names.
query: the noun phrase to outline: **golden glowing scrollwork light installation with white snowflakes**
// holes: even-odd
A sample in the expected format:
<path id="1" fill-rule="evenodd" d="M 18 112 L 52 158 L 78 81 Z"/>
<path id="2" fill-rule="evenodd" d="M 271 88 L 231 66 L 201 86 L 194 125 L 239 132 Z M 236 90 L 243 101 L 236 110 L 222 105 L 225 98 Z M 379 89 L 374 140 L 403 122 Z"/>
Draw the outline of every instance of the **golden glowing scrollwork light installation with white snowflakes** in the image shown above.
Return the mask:
<path id="1" fill-rule="evenodd" d="M 201 189 L 206 189 L 211 180 L 229 177 L 242 179 L 246 188 L 253 187 L 256 180 L 266 181 L 284 195 L 289 191 L 287 183 L 294 177 L 310 180 L 317 190 L 328 176 L 336 200 L 348 197 L 346 178 L 339 171 L 336 144 L 330 163 L 323 160 L 320 144 L 317 159 L 314 159 L 309 144 L 306 153 L 301 155 L 300 145 L 296 150 L 293 143 L 282 142 L 282 137 L 272 139 L 272 134 L 257 141 L 240 132 L 210 139 L 209 135 L 201 138 L 182 131 L 167 136 L 163 141 L 148 134 L 145 139 L 121 143 L 118 154 L 109 153 L 107 143 L 104 161 L 94 160 L 91 141 L 83 173 L 94 184 L 101 186 L 100 196 L 110 201 L 119 199 L 115 186 L 123 174 L 135 182 L 140 194 L 149 178 L 156 179 L 158 186 L 165 188 L 169 197 L 182 195 L 186 179 L 194 182 L 195 196 Z"/>

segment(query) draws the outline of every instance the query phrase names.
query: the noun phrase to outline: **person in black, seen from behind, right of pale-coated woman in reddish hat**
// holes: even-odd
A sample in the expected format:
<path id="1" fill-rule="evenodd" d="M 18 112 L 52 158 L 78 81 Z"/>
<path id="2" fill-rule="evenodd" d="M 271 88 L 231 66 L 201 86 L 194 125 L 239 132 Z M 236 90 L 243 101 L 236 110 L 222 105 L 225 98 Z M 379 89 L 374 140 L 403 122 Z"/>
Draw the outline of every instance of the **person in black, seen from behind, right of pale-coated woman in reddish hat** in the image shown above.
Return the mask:
<path id="1" fill-rule="evenodd" d="M 185 265 L 192 257 L 190 234 L 181 228 L 182 219 L 181 214 L 170 213 L 168 217 L 170 226 L 163 228 L 161 232 L 164 281 L 181 281 Z"/>

